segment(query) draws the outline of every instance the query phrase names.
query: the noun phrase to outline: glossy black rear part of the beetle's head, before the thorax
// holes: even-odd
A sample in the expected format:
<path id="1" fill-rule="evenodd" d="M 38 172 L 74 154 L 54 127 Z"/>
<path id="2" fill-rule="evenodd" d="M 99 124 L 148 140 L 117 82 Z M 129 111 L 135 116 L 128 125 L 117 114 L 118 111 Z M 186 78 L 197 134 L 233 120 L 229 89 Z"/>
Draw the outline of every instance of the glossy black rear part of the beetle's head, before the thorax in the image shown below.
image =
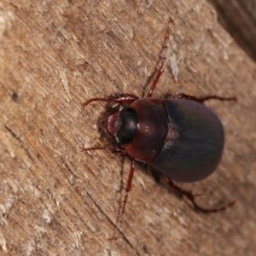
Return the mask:
<path id="1" fill-rule="evenodd" d="M 133 108 L 123 108 L 119 113 L 117 138 L 120 144 L 131 143 L 137 131 L 137 113 Z"/>

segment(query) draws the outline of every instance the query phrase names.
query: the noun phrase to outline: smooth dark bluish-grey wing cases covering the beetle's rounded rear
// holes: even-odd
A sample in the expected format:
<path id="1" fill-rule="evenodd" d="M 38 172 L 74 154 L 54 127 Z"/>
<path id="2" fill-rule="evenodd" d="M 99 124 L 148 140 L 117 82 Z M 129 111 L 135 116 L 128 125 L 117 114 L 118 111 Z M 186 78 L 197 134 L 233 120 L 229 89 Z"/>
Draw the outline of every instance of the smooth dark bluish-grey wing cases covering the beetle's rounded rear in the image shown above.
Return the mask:
<path id="1" fill-rule="evenodd" d="M 205 105 L 186 99 L 165 101 L 168 129 L 177 132 L 166 140 L 151 163 L 178 182 L 195 182 L 217 168 L 224 148 L 224 128 Z"/>

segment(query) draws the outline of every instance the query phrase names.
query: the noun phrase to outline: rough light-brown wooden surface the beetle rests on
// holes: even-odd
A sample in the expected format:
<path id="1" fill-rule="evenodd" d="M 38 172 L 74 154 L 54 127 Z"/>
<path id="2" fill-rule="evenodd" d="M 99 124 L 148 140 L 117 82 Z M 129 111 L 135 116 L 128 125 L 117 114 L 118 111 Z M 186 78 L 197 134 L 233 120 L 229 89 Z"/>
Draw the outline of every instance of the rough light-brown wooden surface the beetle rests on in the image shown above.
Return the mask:
<path id="1" fill-rule="evenodd" d="M 87 3 L 88 2 L 88 3 Z M 237 96 L 208 102 L 226 144 L 218 170 L 183 188 L 195 212 L 137 166 L 119 239 L 110 241 L 129 161 L 104 144 L 104 109 L 80 103 L 114 92 L 142 95 L 167 20 L 172 38 L 154 96 Z M 3 255 L 254 255 L 256 67 L 205 1 L 0 3 L 0 249 Z M 170 65 L 170 62 L 172 65 Z"/>

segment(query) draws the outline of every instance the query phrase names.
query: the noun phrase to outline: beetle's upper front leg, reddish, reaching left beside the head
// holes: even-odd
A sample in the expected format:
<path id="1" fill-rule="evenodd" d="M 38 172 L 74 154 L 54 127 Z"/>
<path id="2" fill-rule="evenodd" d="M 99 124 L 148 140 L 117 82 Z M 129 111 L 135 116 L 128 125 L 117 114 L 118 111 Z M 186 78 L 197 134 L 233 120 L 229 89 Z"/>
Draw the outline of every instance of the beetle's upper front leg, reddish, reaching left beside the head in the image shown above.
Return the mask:
<path id="1" fill-rule="evenodd" d="M 91 102 L 108 102 L 108 103 L 132 103 L 138 99 L 138 96 L 132 95 L 132 94 L 117 94 L 114 96 L 109 96 L 107 98 L 92 98 L 88 100 L 87 102 L 82 103 L 82 107 L 86 107 Z"/>

